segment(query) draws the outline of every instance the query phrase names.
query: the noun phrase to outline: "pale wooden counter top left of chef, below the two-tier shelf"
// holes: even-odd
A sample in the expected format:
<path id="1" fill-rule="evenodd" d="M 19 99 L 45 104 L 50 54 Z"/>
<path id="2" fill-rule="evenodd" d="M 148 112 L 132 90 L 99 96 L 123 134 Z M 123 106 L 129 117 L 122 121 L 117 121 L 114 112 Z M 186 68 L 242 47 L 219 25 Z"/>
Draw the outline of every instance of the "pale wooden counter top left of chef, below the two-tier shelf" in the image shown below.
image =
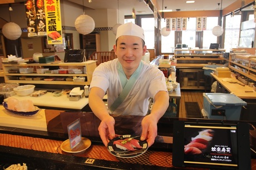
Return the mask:
<path id="1" fill-rule="evenodd" d="M 32 100 L 35 106 L 44 106 L 44 107 L 56 107 L 62 109 L 73 109 L 73 110 L 81 110 L 88 104 L 88 98 L 82 97 L 78 101 L 70 101 L 66 95 L 61 95 L 60 97 L 53 96 L 52 92 L 47 92 L 46 94 L 38 97 L 31 96 L 12 96 L 18 100 Z M 6 101 L 6 99 L 5 99 Z"/>

